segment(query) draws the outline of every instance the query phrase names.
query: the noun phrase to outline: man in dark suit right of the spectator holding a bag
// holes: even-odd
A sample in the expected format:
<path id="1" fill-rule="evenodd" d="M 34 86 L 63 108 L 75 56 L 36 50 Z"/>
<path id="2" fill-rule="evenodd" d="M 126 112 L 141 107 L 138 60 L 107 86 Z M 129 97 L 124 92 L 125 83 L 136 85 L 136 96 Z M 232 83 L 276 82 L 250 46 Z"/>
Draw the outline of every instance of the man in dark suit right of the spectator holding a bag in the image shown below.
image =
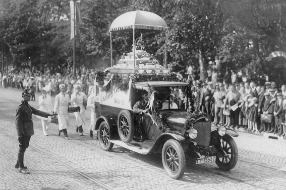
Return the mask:
<path id="1" fill-rule="evenodd" d="M 277 100 L 274 103 L 274 110 L 273 110 L 273 115 L 274 115 L 274 120 L 275 120 L 275 127 L 274 127 L 274 133 L 273 134 L 277 134 L 277 135 L 281 135 L 283 132 L 281 130 L 281 122 L 282 121 L 282 117 L 283 117 L 283 106 L 282 106 L 282 102 L 283 102 L 283 98 L 282 98 L 282 92 L 278 92 L 276 94 Z"/>

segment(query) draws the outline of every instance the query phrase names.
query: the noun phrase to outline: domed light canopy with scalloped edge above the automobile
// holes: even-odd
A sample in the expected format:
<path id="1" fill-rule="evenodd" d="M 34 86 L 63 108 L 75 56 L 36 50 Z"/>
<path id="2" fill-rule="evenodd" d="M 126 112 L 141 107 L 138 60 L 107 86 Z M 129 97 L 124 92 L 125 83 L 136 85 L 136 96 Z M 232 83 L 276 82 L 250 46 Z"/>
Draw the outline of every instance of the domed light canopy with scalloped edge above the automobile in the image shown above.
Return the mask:
<path id="1" fill-rule="evenodd" d="M 147 11 L 131 11 L 116 18 L 109 32 L 125 29 L 167 30 L 166 22 L 158 15 Z"/>

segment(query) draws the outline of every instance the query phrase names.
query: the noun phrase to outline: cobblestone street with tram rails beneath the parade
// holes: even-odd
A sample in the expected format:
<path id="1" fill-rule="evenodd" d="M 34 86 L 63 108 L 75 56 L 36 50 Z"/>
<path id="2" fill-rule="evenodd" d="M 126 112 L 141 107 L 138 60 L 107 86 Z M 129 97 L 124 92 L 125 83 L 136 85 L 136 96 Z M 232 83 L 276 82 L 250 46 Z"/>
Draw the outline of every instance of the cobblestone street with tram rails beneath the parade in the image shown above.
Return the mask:
<path id="1" fill-rule="evenodd" d="M 222 171 L 213 162 L 187 165 L 183 178 L 174 180 L 164 173 L 160 155 L 141 155 L 116 145 L 111 152 L 103 151 L 95 134 L 89 137 L 90 110 L 83 137 L 76 133 L 71 114 L 70 140 L 58 136 L 55 124 L 44 136 L 40 120 L 33 116 L 35 135 L 24 158 L 31 174 L 20 174 L 14 165 L 19 145 L 15 111 L 21 93 L 0 88 L 0 189 L 286 189 L 286 140 L 239 132 L 234 169 Z M 38 109 L 37 101 L 29 104 Z"/>

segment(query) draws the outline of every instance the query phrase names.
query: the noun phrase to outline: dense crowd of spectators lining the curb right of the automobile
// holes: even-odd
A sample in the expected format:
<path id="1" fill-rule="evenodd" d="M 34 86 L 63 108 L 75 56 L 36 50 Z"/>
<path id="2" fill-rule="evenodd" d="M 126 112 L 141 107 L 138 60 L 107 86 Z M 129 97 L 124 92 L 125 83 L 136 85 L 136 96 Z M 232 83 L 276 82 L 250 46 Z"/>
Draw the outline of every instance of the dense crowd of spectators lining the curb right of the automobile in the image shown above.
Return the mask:
<path id="1" fill-rule="evenodd" d="M 215 125 L 285 136 L 286 85 L 193 81 L 197 109 Z"/>

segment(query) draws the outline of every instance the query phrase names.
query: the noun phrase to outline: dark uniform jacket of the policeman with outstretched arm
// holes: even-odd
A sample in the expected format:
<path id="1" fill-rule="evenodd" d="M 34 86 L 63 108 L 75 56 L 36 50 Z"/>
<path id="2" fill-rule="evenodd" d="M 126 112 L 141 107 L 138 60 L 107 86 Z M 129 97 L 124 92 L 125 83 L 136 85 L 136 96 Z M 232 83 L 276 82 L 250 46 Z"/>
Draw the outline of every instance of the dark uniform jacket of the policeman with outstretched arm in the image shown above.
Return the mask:
<path id="1" fill-rule="evenodd" d="M 48 113 L 41 112 L 31 107 L 28 102 L 22 101 L 16 110 L 16 130 L 18 135 L 34 135 L 32 114 L 47 118 Z"/>

